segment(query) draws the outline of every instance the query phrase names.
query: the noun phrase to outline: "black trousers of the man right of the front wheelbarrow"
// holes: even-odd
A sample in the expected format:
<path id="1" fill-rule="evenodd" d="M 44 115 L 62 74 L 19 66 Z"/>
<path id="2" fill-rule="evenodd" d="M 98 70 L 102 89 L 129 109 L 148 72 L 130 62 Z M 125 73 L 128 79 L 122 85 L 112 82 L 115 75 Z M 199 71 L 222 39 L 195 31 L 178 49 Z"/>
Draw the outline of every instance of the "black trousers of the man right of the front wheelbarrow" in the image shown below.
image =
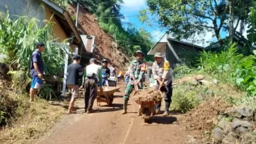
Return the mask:
<path id="1" fill-rule="evenodd" d="M 158 86 L 156 86 L 157 90 L 159 89 Z M 165 101 L 165 105 L 166 105 L 166 108 L 165 110 L 168 111 L 169 107 L 170 107 L 170 104 L 172 103 L 172 81 L 166 86 L 162 86 L 160 88 L 160 91 L 161 92 L 164 92 L 164 101 Z M 160 109 L 161 108 L 161 102 L 159 102 L 157 105 L 156 105 L 156 110 L 157 109 Z"/>

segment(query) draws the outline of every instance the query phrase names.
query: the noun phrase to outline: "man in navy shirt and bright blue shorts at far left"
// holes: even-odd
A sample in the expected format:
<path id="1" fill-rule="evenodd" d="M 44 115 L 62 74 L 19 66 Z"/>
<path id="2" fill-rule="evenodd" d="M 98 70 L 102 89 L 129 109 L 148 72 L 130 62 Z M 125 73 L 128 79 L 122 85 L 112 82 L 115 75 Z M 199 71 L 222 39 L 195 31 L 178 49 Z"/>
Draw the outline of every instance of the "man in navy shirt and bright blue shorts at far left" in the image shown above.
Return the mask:
<path id="1" fill-rule="evenodd" d="M 36 51 L 31 54 L 30 62 L 30 74 L 32 77 L 32 83 L 30 87 L 30 102 L 33 102 L 36 92 L 39 88 L 42 88 L 42 77 L 44 74 L 44 62 L 42 59 L 42 53 L 45 49 L 45 45 L 42 42 L 36 43 Z"/>

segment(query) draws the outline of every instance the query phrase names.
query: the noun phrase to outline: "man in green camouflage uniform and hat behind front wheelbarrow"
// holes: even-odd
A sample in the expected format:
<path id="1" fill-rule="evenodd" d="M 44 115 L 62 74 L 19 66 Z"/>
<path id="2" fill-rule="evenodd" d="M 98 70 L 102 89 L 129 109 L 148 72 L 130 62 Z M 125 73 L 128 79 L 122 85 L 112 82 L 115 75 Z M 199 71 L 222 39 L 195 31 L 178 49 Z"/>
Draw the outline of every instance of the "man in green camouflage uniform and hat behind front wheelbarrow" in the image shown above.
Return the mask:
<path id="1" fill-rule="evenodd" d="M 138 89 L 142 89 L 142 75 L 144 74 L 146 67 L 145 63 L 143 63 L 142 58 L 144 56 L 142 51 L 136 51 L 134 53 L 134 56 L 136 56 L 136 60 L 131 61 L 130 63 L 130 80 L 127 84 L 127 87 L 125 89 L 125 95 L 124 95 L 124 111 L 122 114 L 124 115 L 127 113 L 127 104 L 129 100 L 129 96 L 132 92 L 132 89 L 136 86 L 138 86 Z"/>

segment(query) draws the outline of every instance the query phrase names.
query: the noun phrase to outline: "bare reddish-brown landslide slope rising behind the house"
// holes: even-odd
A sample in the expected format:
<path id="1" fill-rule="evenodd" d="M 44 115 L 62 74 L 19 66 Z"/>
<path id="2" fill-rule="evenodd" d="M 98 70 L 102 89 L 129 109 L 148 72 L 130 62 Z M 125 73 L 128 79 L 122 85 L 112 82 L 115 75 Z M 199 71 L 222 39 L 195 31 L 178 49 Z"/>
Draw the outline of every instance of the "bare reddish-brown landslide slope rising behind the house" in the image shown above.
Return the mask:
<path id="1" fill-rule="evenodd" d="M 76 16 L 76 6 L 68 4 L 68 12 L 72 16 Z M 84 8 L 79 8 L 79 26 L 78 30 L 83 35 L 95 36 L 94 50 L 97 60 L 106 58 L 109 63 L 113 63 L 118 70 L 125 70 L 129 58 L 122 52 L 120 47 L 114 42 L 113 38 L 105 33 L 99 26 L 95 17 L 87 12 Z"/>

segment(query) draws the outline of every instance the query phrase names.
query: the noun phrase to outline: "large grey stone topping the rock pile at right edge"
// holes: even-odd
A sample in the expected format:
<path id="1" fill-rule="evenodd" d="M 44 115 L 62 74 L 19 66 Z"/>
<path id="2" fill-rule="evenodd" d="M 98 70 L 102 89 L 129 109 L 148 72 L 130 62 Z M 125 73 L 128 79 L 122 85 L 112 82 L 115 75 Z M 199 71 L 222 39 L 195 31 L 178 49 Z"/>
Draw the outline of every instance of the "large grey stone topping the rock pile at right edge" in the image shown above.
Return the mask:
<path id="1" fill-rule="evenodd" d="M 230 115 L 235 118 L 253 118 L 253 110 L 250 108 L 237 108 L 233 109 Z"/>

